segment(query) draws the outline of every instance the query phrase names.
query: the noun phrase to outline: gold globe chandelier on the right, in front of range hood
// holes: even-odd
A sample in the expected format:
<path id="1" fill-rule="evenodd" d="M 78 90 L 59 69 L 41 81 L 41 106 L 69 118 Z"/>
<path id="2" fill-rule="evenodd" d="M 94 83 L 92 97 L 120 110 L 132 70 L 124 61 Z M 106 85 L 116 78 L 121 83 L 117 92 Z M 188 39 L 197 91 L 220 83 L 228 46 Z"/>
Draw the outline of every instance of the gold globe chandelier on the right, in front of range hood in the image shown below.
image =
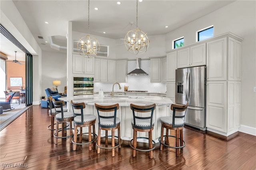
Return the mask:
<path id="1" fill-rule="evenodd" d="M 145 53 L 148 49 L 149 40 L 147 33 L 142 32 L 138 28 L 138 0 L 137 2 L 137 10 L 136 10 L 136 30 L 128 31 L 124 38 L 124 43 L 128 51 L 130 51 L 133 54 L 142 54 Z"/>

